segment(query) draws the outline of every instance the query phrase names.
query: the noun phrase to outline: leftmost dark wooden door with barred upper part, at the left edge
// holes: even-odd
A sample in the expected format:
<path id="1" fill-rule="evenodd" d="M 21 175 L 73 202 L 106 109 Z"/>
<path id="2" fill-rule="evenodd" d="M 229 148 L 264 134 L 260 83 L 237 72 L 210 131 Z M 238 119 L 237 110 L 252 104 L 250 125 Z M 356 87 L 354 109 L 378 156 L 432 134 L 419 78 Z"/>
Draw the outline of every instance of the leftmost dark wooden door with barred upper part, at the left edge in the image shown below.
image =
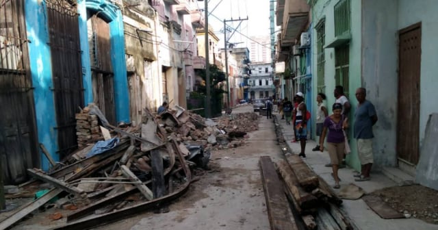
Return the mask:
<path id="1" fill-rule="evenodd" d="M 26 181 L 26 169 L 40 166 L 24 2 L 0 4 L 0 173 L 6 185 Z"/>

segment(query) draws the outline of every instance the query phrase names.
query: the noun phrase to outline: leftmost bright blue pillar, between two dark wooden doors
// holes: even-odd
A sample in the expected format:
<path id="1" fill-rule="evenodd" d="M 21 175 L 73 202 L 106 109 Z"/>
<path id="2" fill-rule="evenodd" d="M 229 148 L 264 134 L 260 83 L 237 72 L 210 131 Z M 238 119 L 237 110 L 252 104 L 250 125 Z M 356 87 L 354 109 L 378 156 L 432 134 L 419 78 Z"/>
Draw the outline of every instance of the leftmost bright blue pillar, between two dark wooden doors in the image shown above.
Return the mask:
<path id="1" fill-rule="evenodd" d="M 57 130 L 55 101 L 53 97 L 53 81 L 51 52 L 49 47 L 49 31 L 47 30 L 47 8 L 44 1 L 25 1 L 25 20 L 27 25 L 27 38 L 29 39 L 29 58 L 32 84 L 34 85 L 34 101 L 38 140 L 44 144 L 55 161 Z M 40 149 L 38 149 L 40 151 Z M 49 162 L 43 154 L 41 168 L 49 169 Z"/>

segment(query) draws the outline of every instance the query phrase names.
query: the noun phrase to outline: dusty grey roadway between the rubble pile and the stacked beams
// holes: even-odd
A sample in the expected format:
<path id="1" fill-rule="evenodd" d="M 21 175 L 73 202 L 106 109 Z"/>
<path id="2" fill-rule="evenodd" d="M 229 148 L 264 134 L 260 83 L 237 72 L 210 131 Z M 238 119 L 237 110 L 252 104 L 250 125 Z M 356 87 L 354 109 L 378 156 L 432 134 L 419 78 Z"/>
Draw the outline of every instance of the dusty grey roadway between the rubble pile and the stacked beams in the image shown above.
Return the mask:
<path id="1" fill-rule="evenodd" d="M 234 113 L 252 112 L 252 105 Z M 259 130 L 248 133 L 246 146 L 212 151 L 210 168 L 190 190 L 170 204 L 170 212 L 148 212 L 96 229 L 269 229 L 259 157 L 281 157 L 272 119 L 260 116 Z"/>

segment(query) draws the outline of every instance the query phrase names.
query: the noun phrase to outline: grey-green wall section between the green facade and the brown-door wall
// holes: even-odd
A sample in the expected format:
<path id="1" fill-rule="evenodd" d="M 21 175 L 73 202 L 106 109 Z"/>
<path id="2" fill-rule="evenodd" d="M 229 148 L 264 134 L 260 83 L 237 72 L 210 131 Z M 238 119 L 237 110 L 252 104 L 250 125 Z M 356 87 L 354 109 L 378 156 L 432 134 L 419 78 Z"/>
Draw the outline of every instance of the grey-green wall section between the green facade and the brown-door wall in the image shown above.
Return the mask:
<path id="1" fill-rule="evenodd" d="M 373 130 L 374 160 L 379 166 L 396 166 L 398 1 L 362 2 L 361 84 L 378 116 Z"/>

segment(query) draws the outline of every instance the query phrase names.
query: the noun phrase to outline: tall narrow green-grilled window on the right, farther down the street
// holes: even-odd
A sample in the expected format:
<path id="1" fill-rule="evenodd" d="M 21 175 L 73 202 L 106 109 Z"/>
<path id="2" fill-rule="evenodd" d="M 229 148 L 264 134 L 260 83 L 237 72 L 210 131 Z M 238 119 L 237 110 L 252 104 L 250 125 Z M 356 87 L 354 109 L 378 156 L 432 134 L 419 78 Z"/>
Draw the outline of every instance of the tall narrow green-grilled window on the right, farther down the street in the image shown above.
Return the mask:
<path id="1" fill-rule="evenodd" d="M 316 76 L 317 76 L 317 87 L 318 92 L 324 92 L 325 88 L 325 79 L 324 79 L 324 65 L 326 63 L 325 60 L 325 52 L 324 52 L 324 44 L 325 44 L 325 19 L 322 19 L 316 26 Z"/>

